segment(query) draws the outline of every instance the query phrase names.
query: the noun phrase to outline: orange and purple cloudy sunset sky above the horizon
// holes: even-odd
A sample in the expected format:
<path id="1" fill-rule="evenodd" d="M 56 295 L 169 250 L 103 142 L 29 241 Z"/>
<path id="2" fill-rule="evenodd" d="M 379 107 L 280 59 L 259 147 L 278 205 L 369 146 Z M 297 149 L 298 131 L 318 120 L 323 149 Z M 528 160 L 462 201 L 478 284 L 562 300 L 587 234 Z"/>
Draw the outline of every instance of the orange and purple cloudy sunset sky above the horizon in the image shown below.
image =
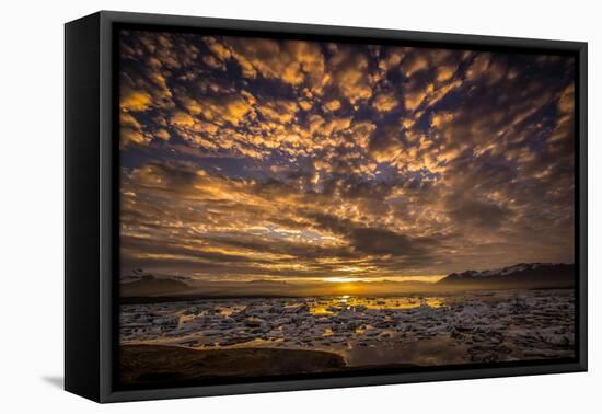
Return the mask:
<path id="1" fill-rule="evenodd" d="M 121 277 L 393 280 L 574 262 L 572 57 L 119 41 Z"/>

